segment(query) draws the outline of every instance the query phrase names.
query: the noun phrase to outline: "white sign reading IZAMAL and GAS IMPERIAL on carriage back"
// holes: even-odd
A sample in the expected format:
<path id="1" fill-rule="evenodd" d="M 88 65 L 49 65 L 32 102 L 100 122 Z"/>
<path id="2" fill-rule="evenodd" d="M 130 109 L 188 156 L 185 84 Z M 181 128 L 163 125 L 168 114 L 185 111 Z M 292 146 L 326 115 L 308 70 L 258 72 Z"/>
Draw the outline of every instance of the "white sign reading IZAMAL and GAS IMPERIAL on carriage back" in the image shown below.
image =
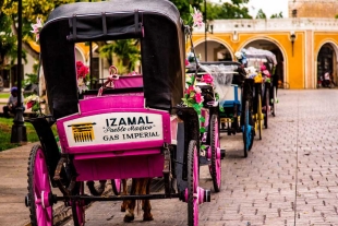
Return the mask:
<path id="1" fill-rule="evenodd" d="M 154 141 L 164 138 L 161 115 L 111 112 L 82 117 L 63 124 L 69 146 Z"/>

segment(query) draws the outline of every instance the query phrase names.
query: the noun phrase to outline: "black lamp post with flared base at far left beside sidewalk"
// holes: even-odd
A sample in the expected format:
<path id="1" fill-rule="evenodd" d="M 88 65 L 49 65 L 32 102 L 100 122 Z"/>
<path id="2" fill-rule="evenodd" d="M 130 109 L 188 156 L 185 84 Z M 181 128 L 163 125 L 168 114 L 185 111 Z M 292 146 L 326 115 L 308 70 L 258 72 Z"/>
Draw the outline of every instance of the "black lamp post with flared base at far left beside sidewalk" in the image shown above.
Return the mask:
<path id="1" fill-rule="evenodd" d="M 22 82 L 22 0 L 17 1 L 17 104 L 15 108 L 14 124 L 12 127 L 11 143 L 27 141 L 26 127 L 24 126 L 23 107 L 21 103 L 21 82 Z"/>

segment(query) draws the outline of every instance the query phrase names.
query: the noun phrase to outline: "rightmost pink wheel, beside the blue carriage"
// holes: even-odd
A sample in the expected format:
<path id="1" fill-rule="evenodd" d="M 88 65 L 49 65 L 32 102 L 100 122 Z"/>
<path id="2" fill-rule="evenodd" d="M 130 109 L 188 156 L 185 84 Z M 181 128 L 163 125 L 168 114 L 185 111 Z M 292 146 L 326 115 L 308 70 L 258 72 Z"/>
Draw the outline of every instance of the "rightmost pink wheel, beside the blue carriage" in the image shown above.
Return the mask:
<path id="1" fill-rule="evenodd" d="M 212 139 L 212 178 L 214 183 L 214 190 L 219 192 L 220 189 L 220 176 L 221 176 L 221 160 L 220 160 L 220 144 L 219 144 L 219 130 L 217 115 L 212 116 L 210 120 L 210 139 Z"/>

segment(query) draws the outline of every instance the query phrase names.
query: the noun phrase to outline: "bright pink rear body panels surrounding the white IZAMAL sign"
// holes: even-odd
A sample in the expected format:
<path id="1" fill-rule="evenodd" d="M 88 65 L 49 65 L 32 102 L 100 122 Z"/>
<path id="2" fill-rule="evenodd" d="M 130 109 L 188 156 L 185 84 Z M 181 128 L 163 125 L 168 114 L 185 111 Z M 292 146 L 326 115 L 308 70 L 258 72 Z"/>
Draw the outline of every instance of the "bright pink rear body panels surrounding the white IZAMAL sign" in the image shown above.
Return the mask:
<path id="1" fill-rule="evenodd" d="M 164 143 L 171 143 L 173 134 L 171 127 L 177 123 L 170 119 L 167 111 L 145 109 L 144 97 L 136 95 L 113 95 L 93 97 L 80 100 L 80 114 L 72 115 L 57 121 L 62 151 L 74 154 L 74 166 L 79 174 L 77 180 L 101 180 L 141 177 L 161 177 Z M 162 119 L 164 139 L 143 142 L 118 144 L 99 144 L 86 146 L 70 146 L 63 123 L 94 115 L 108 112 L 145 112 L 160 115 Z M 176 127 L 173 127 L 176 128 Z M 176 136 L 176 135 L 174 135 Z"/>

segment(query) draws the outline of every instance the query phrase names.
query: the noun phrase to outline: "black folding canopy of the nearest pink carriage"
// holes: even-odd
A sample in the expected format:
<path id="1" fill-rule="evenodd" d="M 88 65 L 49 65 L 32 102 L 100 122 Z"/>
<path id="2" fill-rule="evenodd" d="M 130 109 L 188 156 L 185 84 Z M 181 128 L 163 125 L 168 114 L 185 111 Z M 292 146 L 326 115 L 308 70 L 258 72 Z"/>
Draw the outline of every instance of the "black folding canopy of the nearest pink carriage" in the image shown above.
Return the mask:
<path id="1" fill-rule="evenodd" d="M 146 106 L 171 109 L 184 92 L 184 26 L 167 0 L 77 2 L 55 9 L 40 32 L 49 108 L 76 114 L 75 43 L 140 38 Z"/>

